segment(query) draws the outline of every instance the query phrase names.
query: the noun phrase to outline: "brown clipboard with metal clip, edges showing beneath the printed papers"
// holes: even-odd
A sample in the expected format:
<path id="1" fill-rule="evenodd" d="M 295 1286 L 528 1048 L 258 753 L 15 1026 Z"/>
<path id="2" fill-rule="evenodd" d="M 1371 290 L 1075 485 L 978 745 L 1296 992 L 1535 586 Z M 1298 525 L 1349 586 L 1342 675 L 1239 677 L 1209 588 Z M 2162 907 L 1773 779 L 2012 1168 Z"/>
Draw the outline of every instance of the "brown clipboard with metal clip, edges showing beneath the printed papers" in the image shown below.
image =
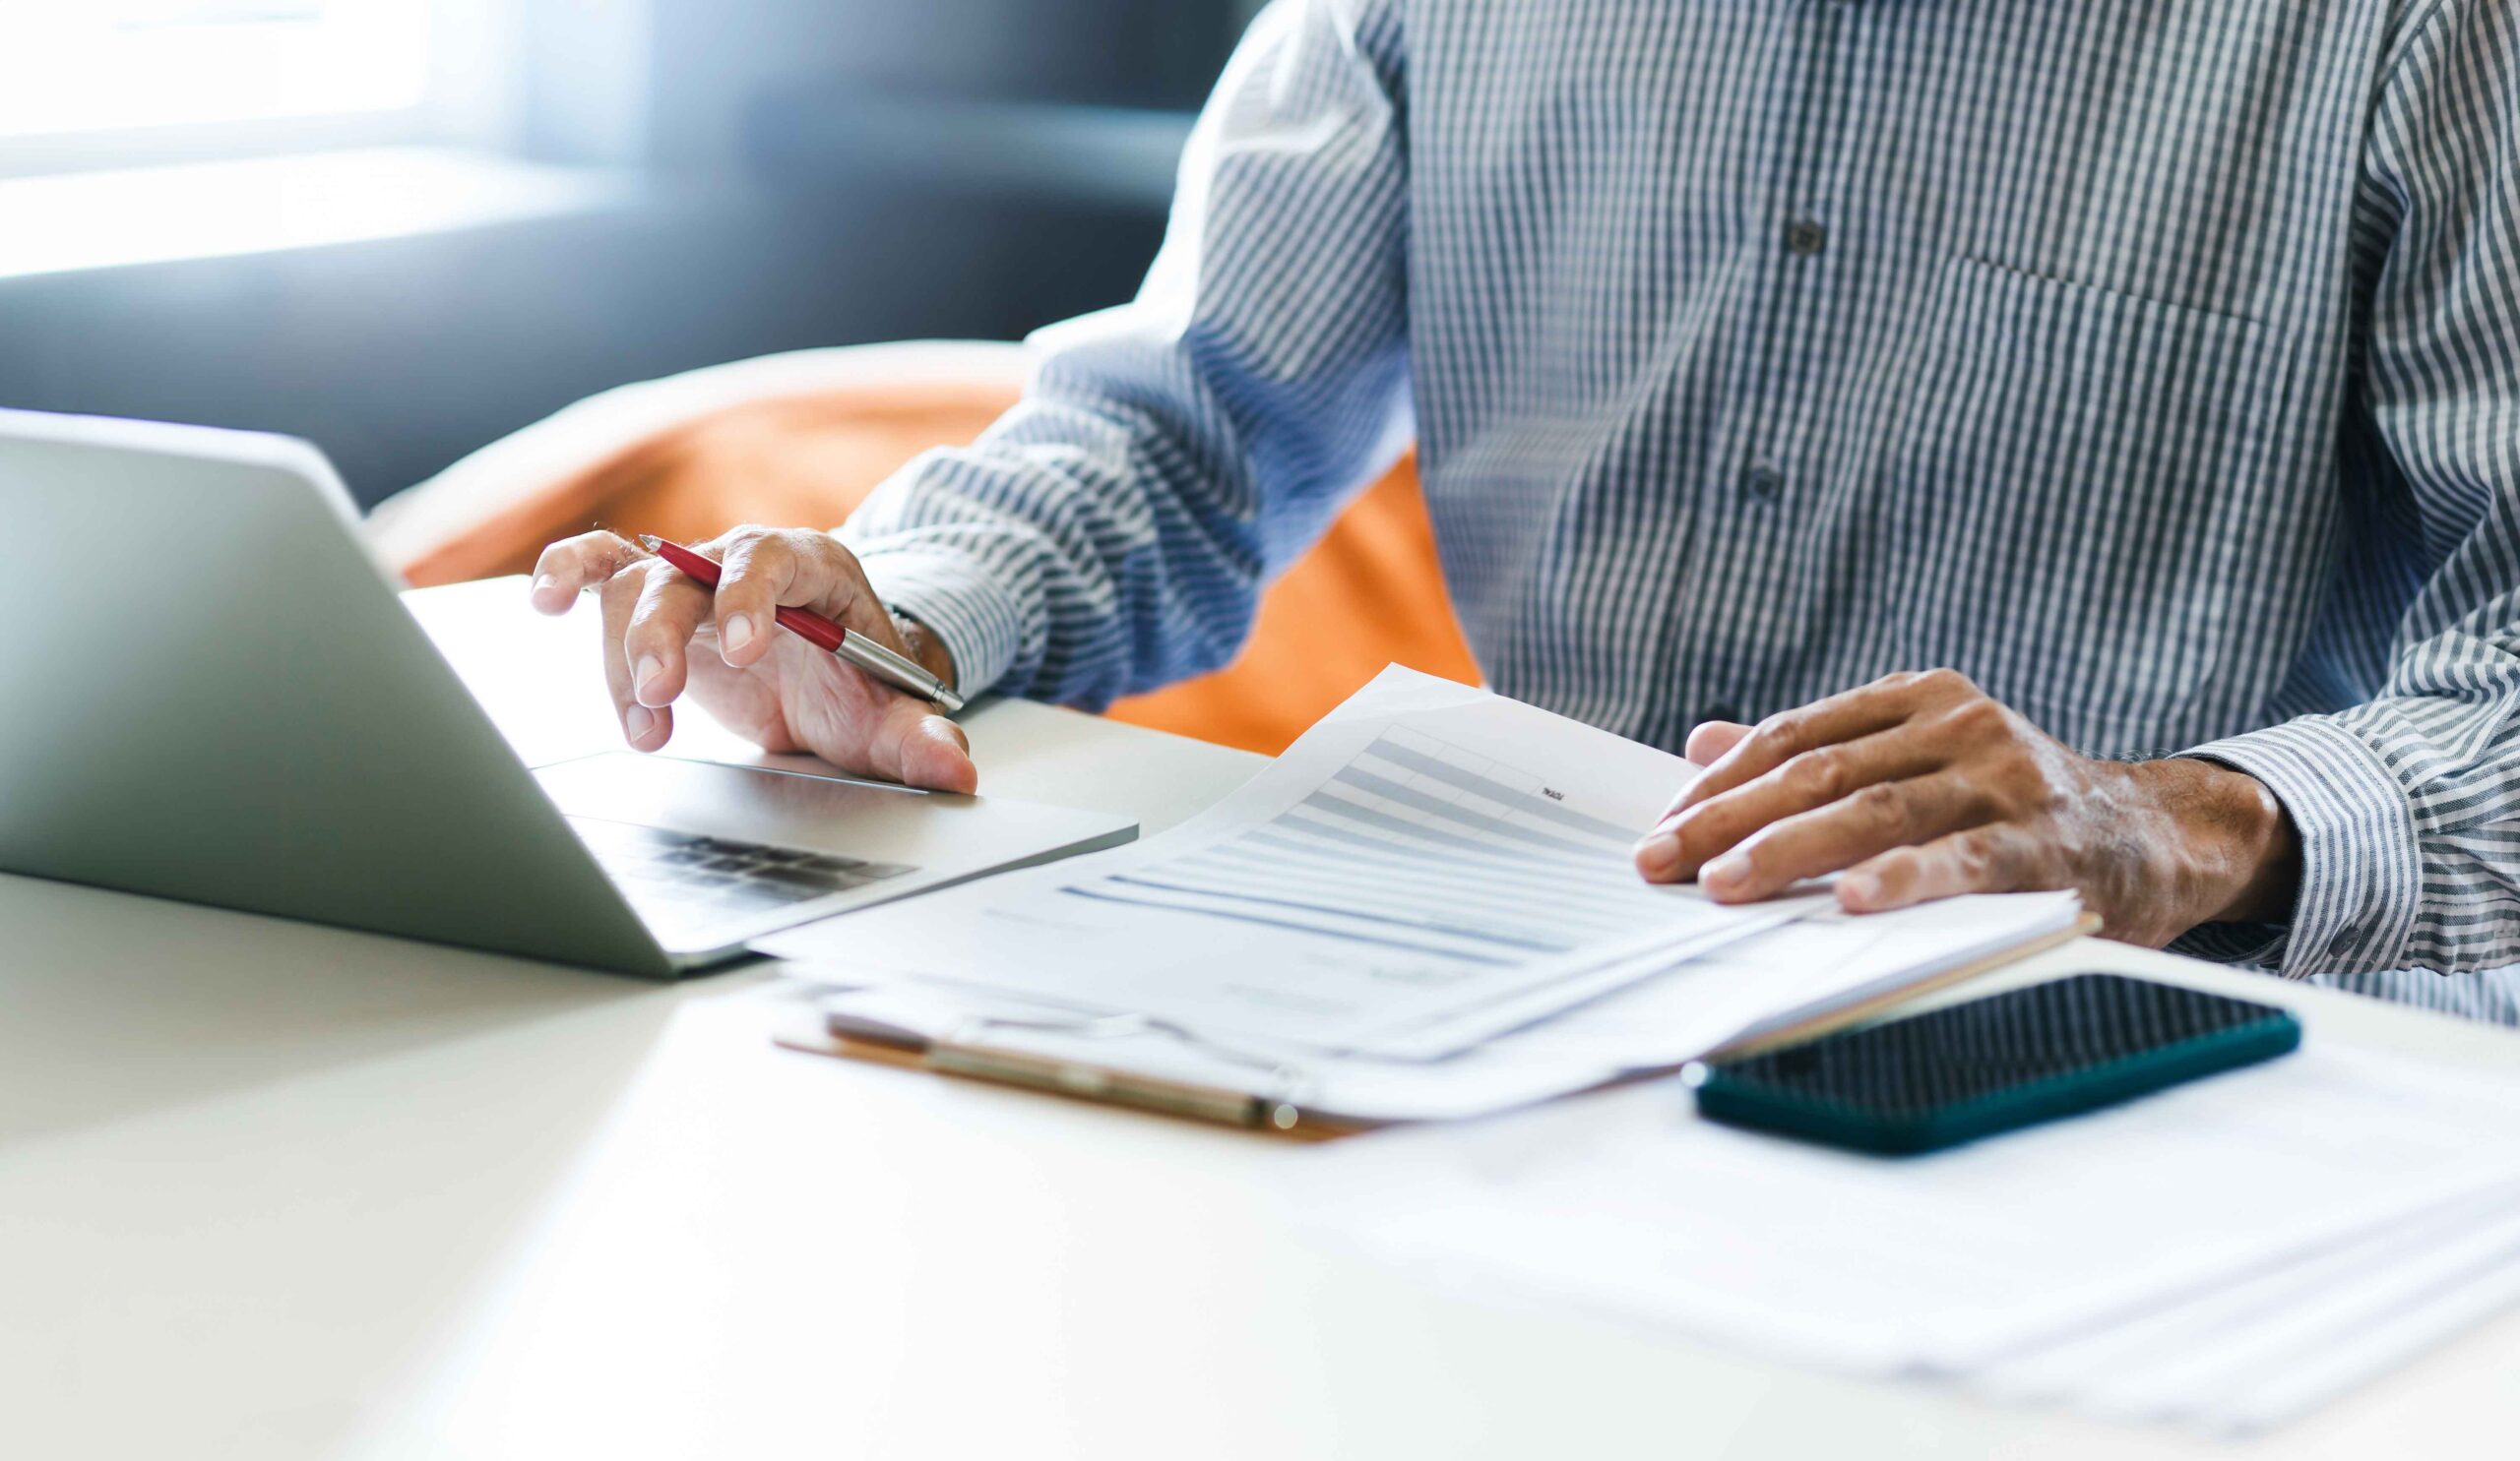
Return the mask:
<path id="1" fill-rule="evenodd" d="M 2079 914 L 2074 924 L 2064 929 L 2024 940 L 2013 947 L 1996 950 L 1976 960 L 1966 960 L 1961 965 L 1953 965 L 1933 975 L 1920 975 L 1915 982 L 1900 985 L 1895 990 L 1872 998 L 1850 1000 L 1845 1005 L 1830 1005 L 1827 1010 L 1812 1013 L 1809 1018 L 1756 1030 L 1751 1035 L 1724 1043 L 1698 1058 L 1751 1055 L 1759 1050 L 1774 1050 L 1779 1045 L 1797 1045 L 1802 1040 L 1832 1035 L 1837 1030 L 1847 1030 L 1855 1025 L 1867 1025 L 1872 1020 L 1890 1015 L 1893 1010 L 1898 1010 L 1910 1000 L 1950 990 L 1956 985 L 1983 977 L 1993 970 L 2001 970 L 2031 955 L 2064 947 L 2094 932 L 2099 932 L 2099 917 Z M 960 1081 L 1013 1086 L 1021 1091 L 1063 1096 L 1071 1101 L 1091 1101 L 1096 1106 L 1121 1106 L 1131 1111 L 1149 1111 L 1157 1116 L 1174 1116 L 1212 1126 L 1235 1126 L 1270 1136 L 1326 1141 L 1396 1123 L 1396 1121 L 1368 1121 L 1368 1118 L 1343 1116 L 1336 1111 L 1308 1108 L 1300 1101 L 1290 1101 L 1283 1093 L 1265 1088 L 1169 1081 L 1142 1071 L 1124 1071 L 1111 1066 L 1096 1066 L 1091 1060 L 1074 1060 L 1074 1058 L 1043 1055 L 1038 1050 L 1016 1050 L 1005 1045 L 993 1045 L 980 1035 L 980 1030 L 985 1028 L 988 1028 L 985 1020 L 975 1020 L 970 1033 L 958 1033 L 950 1038 L 927 1038 L 912 1030 L 877 1030 L 872 1025 L 834 1030 L 832 1023 L 822 1018 L 822 1013 L 816 1010 L 809 1018 L 799 1018 L 794 1028 L 779 1030 L 774 1040 L 789 1050 L 801 1050 L 806 1055 L 837 1055 L 844 1060 L 864 1060 L 905 1071 L 927 1071 L 935 1076 L 950 1076 Z M 1676 1073 L 1681 1066 L 1683 1060 L 1673 1060 L 1668 1066 L 1648 1071 L 1628 1071 L 1605 1081 L 1593 1081 L 1580 1091 L 1600 1091 L 1608 1086 L 1658 1081 L 1663 1076 Z M 1557 1096 L 1575 1096 L 1580 1091 L 1560 1091 Z"/>

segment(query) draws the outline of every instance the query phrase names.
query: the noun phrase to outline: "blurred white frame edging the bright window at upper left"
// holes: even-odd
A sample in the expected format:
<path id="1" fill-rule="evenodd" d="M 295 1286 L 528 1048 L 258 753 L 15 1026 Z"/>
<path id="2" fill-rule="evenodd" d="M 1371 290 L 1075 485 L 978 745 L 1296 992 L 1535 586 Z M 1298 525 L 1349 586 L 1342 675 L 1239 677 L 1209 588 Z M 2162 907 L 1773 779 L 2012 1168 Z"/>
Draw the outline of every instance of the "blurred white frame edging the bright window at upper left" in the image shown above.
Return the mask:
<path id="1" fill-rule="evenodd" d="M 522 134 L 519 10 L 507 0 L 431 0 L 431 78 L 418 106 L 0 136 L 0 176 L 391 144 L 509 149 Z"/>

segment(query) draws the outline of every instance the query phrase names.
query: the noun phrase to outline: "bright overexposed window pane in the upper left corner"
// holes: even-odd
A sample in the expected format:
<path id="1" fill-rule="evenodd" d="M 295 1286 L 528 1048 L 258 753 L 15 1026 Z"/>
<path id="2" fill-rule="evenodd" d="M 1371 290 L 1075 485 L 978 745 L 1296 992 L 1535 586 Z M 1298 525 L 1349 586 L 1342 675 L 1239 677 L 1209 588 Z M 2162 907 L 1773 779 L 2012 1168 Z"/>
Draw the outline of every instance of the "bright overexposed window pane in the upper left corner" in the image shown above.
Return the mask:
<path id="1" fill-rule="evenodd" d="M 0 171 L 479 131 L 496 0 L 0 0 Z"/>

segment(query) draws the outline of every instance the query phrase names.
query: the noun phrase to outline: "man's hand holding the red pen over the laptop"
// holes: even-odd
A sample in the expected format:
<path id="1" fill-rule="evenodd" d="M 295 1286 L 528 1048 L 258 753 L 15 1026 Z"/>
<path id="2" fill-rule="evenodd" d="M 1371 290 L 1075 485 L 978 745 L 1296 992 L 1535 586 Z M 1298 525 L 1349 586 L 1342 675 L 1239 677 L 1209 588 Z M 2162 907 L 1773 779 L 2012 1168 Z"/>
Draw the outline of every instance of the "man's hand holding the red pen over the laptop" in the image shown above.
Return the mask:
<path id="1" fill-rule="evenodd" d="M 781 607 L 814 610 L 953 683 L 942 645 L 925 635 L 917 650 L 905 642 L 839 539 L 738 526 L 693 552 L 726 564 L 716 594 L 610 532 L 554 542 L 534 564 L 532 597 L 544 615 L 564 615 L 585 589 L 597 589 L 605 680 L 633 748 L 665 746 L 673 703 L 688 690 L 764 751 L 811 751 L 857 776 L 935 791 L 978 788 L 960 725 L 774 622 Z"/>

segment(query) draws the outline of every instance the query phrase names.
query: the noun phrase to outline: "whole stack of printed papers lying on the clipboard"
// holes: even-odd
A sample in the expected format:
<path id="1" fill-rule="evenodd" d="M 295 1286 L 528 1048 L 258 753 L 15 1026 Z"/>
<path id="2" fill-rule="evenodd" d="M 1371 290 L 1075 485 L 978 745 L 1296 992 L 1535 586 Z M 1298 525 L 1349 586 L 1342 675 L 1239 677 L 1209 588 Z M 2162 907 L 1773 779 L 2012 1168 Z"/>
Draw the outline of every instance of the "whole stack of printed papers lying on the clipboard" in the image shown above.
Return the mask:
<path id="1" fill-rule="evenodd" d="M 829 1008 L 849 1033 L 1424 1121 L 1668 1068 L 2074 924 L 2071 894 L 1845 919 L 1651 887 L 1630 846 L 1696 773 L 1386 670 L 1164 836 L 759 947 L 859 990 Z"/>

